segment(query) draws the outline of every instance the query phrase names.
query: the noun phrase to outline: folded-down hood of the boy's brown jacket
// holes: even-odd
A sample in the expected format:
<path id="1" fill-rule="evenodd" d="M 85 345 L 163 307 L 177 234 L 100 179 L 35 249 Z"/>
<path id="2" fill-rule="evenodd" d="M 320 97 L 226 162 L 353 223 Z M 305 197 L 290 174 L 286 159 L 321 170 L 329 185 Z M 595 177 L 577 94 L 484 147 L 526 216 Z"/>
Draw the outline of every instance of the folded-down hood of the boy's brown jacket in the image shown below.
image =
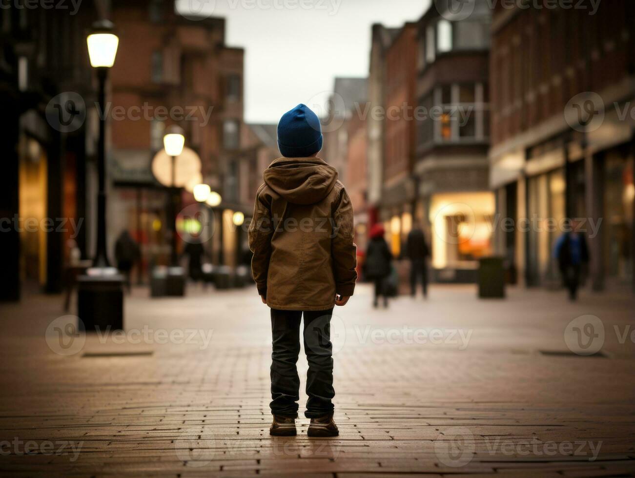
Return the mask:
<path id="1" fill-rule="evenodd" d="M 337 170 L 319 157 L 281 157 L 265 169 L 262 177 L 291 204 L 314 204 L 335 187 Z"/>

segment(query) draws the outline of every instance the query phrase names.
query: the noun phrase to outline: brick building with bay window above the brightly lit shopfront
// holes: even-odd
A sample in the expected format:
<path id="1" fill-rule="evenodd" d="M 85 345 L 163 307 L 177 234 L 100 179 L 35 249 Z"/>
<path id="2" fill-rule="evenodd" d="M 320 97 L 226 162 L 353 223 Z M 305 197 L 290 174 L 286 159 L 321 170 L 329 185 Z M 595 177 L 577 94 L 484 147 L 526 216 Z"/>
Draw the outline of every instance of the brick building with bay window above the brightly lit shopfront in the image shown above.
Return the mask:
<path id="1" fill-rule="evenodd" d="M 437 281 L 474 281 L 478 258 L 491 253 L 491 11 L 486 0 L 471 5 L 474 11 L 463 18 L 435 2 L 417 24 L 416 186 L 411 197 L 417 198 L 413 215 L 422 220 L 431 242 L 432 279 Z M 401 224 L 406 212 L 396 210 L 385 218 L 392 232 L 406 229 Z"/>

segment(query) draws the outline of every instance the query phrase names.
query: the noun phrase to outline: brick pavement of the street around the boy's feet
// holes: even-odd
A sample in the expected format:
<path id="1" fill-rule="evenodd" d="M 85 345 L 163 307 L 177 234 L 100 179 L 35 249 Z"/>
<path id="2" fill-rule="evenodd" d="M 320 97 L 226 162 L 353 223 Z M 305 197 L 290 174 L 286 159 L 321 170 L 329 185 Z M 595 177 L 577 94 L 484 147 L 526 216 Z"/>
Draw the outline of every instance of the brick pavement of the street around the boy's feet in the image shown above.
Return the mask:
<path id="1" fill-rule="evenodd" d="M 358 290 L 333 319 L 333 440 L 308 439 L 304 418 L 297 437 L 269 436 L 269 319 L 251 288 L 185 300 L 138 290 L 128 335 L 67 349 L 46 340 L 65 321 L 51 322 L 60 298 L 1 306 L 0 472 L 635 474 L 632 295 L 570 304 L 512 289 L 483 301 L 471 286 L 433 286 L 426 302 L 373 310 L 370 288 Z M 565 342 L 588 314 L 604 329 L 602 357 Z"/>

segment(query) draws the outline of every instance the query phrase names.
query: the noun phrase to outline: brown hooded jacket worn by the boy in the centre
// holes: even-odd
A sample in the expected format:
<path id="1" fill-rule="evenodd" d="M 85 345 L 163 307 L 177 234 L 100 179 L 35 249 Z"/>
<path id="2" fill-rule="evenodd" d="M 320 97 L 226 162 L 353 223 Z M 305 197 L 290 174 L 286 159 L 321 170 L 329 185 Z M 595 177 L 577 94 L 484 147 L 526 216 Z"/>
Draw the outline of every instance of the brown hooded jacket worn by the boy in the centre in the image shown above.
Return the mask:
<path id="1" fill-rule="evenodd" d="M 337 171 L 319 157 L 281 157 L 263 178 L 249 227 L 258 293 L 272 309 L 331 309 L 357 279 L 352 205 Z"/>

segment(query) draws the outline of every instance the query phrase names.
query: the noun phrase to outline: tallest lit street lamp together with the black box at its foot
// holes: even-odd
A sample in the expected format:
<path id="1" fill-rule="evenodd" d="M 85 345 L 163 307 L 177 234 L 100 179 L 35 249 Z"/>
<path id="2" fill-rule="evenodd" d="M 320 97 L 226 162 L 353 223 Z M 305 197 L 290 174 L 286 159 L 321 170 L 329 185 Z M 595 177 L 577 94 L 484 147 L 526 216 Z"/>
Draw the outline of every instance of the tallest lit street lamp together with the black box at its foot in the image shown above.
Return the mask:
<path id="1" fill-rule="evenodd" d="M 77 278 L 77 323 L 79 330 L 123 329 L 123 276 L 110 267 L 106 251 L 106 81 L 115 62 L 119 38 L 108 20 L 93 23 L 86 38 L 90 64 L 98 79 L 98 102 L 102 111 L 97 143 L 97 250 L 93 267 Z"/>

